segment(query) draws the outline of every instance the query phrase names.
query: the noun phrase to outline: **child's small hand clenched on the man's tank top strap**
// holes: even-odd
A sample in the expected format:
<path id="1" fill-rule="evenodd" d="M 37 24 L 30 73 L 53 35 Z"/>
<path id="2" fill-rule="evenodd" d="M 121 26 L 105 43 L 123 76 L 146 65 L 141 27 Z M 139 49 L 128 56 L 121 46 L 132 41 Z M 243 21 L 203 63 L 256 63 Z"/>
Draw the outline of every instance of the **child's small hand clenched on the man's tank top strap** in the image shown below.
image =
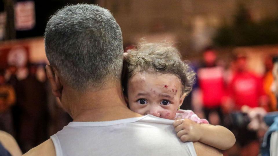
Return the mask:
<path id="1" fill-rule="evenodd" d="M 200 124 L 190 119 L 175 119 L 173 126 L 182 142 L 195 142 L 200 140 L 202 136 L 202 131 L 199 128 Z"/>

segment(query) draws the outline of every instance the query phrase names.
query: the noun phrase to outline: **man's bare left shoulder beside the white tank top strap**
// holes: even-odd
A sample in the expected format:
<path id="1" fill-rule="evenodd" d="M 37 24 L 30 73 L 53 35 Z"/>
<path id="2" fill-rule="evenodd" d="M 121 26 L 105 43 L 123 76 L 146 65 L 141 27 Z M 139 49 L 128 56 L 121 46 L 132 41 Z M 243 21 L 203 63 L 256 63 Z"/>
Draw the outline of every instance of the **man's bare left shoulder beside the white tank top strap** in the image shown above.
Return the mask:
<path id="1" fill-rule="evenodd" d="M 24 154 L 24 156 L 56 156 L 55 147 L 51 139 L 46 140 L 39 146 L 32 148 L 30 151 Z"/>

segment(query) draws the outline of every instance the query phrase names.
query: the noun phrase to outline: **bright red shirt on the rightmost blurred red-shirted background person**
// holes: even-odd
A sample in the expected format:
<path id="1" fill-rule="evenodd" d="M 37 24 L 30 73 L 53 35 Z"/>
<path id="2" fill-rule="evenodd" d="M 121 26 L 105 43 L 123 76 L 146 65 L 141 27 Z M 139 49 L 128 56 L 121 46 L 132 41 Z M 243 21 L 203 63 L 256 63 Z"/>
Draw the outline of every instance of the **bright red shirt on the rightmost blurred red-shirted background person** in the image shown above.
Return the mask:
<path id="1" fill-rule="evenodd" d="M 247 71 L 237 72 L 229 84 L 229 92 L 238 108 L 258 107 L 259 98 L 264 95 L 262 78 Z"/>

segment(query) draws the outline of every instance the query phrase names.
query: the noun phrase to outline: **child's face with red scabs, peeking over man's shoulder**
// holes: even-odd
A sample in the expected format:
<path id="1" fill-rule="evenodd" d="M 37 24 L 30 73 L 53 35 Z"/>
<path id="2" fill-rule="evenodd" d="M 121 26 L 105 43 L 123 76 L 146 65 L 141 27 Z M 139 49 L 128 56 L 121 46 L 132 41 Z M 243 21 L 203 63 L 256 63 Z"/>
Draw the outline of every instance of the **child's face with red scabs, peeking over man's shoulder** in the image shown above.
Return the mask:
<path id="1" fill-rule="evenodd" d="M 185 94 L 180 79 L 171 74 L 136 73 L 128 81 L 128 103 L 133 112 L 175 119 Z"/>

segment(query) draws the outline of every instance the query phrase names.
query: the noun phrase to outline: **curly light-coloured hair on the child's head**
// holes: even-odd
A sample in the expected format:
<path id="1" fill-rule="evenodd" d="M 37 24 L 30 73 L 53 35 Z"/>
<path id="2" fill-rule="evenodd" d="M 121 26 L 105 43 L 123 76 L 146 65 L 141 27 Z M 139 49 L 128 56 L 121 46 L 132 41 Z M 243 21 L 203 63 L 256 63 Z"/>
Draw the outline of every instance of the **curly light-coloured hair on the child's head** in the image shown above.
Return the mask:
<path id="1" fill-rule="evenodd" d="M 127 81 L 137 72 L 176 75 L 182 83 L 182 93 L 189 94 L 195 83 L 196 73 L 188 61 L 182 61 L 178 49 L 169 42 L 141 42 L 136 49 L 129 50 L 124 58 L 127 70 L 124 74 L 124 91 Z"/>

